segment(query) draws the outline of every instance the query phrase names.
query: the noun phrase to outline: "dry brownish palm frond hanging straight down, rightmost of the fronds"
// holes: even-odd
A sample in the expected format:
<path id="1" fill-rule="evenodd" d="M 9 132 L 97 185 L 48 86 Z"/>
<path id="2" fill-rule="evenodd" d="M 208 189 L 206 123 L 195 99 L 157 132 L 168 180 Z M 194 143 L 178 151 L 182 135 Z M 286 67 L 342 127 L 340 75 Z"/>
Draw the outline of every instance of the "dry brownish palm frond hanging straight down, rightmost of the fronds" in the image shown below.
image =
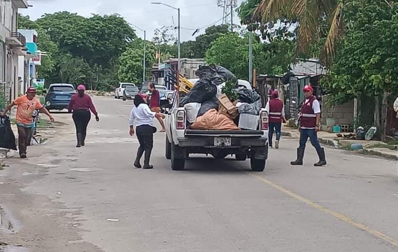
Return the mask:
<path id="1" fill-rule="evenodd" d="M 328 65 L 334 58 L 338 39 L 344 31 L 342 9 L 343 3 L 339 2 L 332 15 L 329 32 L 320 57 L 322 63 L 325 65 Z"/>

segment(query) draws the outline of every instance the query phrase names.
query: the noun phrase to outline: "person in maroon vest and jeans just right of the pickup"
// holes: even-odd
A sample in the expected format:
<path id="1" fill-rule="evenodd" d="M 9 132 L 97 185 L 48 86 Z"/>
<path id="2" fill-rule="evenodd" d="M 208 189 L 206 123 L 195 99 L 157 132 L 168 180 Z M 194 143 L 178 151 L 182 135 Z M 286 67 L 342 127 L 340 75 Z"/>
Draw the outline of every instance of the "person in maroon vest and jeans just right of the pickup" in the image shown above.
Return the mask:
<path id="1" fill-rule="evenodd" d="M 270 148 L 272 148 L 272 137 L 274 136 L 274 130 L 277 134 L 277 140 L 275 141 L 275 148 L 279 149 L 279 140 L 281 135 L 282 120 L 286 121 L 285 110 L 283 106 L 283 101 L 278 99 L 279 92 L 274 90 L 271 93 L 271 99 L 267 102 L 265 110 L 268 113 L 268 143 Z"/>

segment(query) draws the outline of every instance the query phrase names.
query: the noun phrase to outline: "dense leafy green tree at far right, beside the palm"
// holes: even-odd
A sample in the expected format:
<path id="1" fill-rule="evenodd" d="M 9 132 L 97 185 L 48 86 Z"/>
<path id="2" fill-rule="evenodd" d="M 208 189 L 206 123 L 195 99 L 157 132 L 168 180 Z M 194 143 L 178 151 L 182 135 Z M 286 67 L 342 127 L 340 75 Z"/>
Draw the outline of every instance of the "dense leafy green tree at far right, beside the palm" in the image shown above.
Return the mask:
<path id="1" fill-rule="evenodd" d="M 360 95 L 375 97 L 376 124 L 385 136 L 387 97 L 398 94 L 398 5 L 351 0 L 344 3 L 343 11 L 349 25 L 324 87 L 335 103 Z"/>

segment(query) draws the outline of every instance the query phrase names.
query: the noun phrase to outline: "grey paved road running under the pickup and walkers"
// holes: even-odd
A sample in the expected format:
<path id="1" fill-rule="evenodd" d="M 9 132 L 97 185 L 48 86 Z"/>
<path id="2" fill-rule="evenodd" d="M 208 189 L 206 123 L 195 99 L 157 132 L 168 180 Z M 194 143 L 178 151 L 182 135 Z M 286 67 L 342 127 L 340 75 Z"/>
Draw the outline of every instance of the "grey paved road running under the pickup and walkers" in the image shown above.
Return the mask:
<path id="1" fill-rule="evenodd" d="M 101 121 L 91 122 L 86 147 L 74 148 L 67 126 L 0 172 L 0 206 L 14 223 L 0 244 L 34 252 L 398 251 L 395 161 L 327 149 L 329 164 L 316 168 L 309 146 L 305 165 L 292 167 L 297 140 L 283 139 L 263 173 L 247 161 L 200 156 L 174 172 L 158 133 L 155 169 L 144 171 L 132 166 L 132 102 L 95 103 Z"/>

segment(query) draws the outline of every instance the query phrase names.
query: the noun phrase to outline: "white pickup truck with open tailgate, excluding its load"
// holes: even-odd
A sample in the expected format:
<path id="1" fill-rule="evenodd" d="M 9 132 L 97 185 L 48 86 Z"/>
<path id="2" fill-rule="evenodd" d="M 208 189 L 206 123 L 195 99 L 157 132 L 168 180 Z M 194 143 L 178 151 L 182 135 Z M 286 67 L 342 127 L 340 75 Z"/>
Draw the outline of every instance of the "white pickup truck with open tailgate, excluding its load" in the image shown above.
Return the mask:
<path id="1" fill-rule="evenodd" d="M 239 86 L 245 86 L 240 85 Z M 251 89 L 250 85 L 249 88 Z M 257 130 L 191 130 L 186 111 L 177 104 L 177 94 L 166 117 L 166 158 L 173 170 L 184 170 L 189 154 L 210 154 L 222 159 L 235 155 L 239 161 L 250 158 L 251 169 L 262 172 L 268 158 L 268 114 L 261 109 Z"/>

